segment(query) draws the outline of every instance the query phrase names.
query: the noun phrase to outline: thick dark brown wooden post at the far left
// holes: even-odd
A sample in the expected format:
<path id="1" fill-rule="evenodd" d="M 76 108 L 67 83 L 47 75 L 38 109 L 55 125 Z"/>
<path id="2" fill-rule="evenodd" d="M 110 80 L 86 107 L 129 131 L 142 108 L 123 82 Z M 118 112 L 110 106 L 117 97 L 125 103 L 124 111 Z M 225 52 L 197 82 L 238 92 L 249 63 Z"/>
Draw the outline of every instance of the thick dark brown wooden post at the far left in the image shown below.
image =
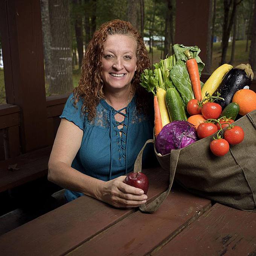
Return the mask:
<path id="1" fill-rule="evenodd" d="M 6 101 L 21 108 L 22 153 L 47 146 L 40 0 L 1 0 Z"/>

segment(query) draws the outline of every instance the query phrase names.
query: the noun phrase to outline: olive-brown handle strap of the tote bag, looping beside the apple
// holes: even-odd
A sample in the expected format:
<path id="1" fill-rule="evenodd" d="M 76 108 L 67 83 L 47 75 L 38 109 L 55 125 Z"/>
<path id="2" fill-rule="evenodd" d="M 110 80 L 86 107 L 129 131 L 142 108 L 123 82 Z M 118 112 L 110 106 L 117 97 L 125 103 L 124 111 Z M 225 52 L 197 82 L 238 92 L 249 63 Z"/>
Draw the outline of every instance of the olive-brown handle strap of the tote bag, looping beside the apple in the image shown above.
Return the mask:
<path id="1" fill-rule="evenodd" d="M 136 158 L 136 161 L 134 163 L 134 171 L 133 172 L 141 172 L 142 154 L 145 149 L 145 146 L 148 143 L 154 143 L 154 140 L 152 140 L 152 139 L 147 140 L 145 145 L 143 146 L 143 148 L 140 150 L 140 152 Z M 165 192 L 163 192 L 162 194 L 160 194 L 157 198 L 155 198 L 151 203 L 140 205 L 139 206 L 140 211 L 148 212 L 148 213 L 155 212 L 160 207 L 160 205 L 163 203 L 163 201 L 165 201 L 165 198 L 169 195 L 169 193 L 171 191 L 175 171 L 176 171 L 177 164 L 178 164 L 179 155 L 180 155 L 180 150 L 172 150 L 171 151 L 171 154 L 170 154 L 170 157 L 171 157 L 171 159 L 170 159 L 170 177 L 169 177 L 168 189 Z"/>

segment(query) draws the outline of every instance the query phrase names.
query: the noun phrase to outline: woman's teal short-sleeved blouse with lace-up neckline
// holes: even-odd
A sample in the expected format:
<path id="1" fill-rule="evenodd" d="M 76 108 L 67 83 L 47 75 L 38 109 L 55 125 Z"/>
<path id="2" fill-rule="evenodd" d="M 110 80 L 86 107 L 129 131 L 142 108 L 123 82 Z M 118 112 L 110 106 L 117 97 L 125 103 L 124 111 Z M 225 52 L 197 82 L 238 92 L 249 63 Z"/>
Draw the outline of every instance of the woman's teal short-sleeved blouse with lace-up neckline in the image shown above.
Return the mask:
<path id="1" fill-rule="evenodd" d="M 108 181 L 133 171 L 134 162 L 144 143 L 153 137 L 154 111 L 149 114 L 139 114 L 136 109 L 135 95 L 126 107 L 126 114 L 115 110 L 102 99 L 96 107 L 96 117 L 89 121 L 81 114 L 83 99 L 73 105 L 73 94 L 66 102 L 61 118 L 75 123 L 82 131 L 82 143 L 73 162 L 72 168 L 97 178 Z M 123 128 L 115 120 L 115 114 L 122 114 L 125 119 Z M 120 133 L 122 136 L 120 136 Z M 146 146 L 143 152 L 142 166 L 148 168 L 154 164 L 155 154 L 152 145 Z M 66 190 L 67 201 L 72 201 L 82 193 Z"/>

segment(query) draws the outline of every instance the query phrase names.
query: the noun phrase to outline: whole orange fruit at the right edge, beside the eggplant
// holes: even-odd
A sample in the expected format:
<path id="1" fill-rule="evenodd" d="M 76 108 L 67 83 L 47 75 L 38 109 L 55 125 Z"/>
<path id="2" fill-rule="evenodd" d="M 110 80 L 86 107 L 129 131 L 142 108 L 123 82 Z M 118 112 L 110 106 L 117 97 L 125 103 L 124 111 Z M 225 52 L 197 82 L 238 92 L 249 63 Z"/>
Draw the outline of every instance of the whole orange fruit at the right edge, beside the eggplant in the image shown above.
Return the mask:
<path id="1" fill-rule="evenodd" d="M 256 109 L 256 93 L 250 89 L 238 90 L 232 99 L 239 105 L 239 114 L 244 116 L 247 113 Z"/>

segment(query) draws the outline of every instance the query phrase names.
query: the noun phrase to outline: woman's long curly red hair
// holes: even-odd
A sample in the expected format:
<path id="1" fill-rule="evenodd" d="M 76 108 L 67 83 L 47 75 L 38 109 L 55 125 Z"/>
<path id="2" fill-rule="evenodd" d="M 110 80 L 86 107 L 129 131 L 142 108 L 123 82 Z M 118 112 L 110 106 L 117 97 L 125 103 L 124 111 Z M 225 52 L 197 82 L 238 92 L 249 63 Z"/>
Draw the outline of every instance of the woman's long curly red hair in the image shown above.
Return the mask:
<path id="1" fill-rule="evenodd" d="M 111 20 L 102 24 L 93 35 L 93 38 L 88 43 L 82 65 L 81 78 L 79 85 L 73 90 L 74 104 L 80 98 L 84 99 L 82 105 L 82 113 L 87 112 L 88 120 L 94 119 L 96 116 L 96 107 L 101 99 L 104 99 L 103 81 L 101 79 L 102 70 L 102 53 L 104 50 L 104 43 L 108 35 L 127 35 L 136 41 L 136 58 L 137 71 L 134 74 L 131 85 L 133 91 L 138 95 L 137 110 L 141 113 L 146 113 L 149 105 L 149 93 L 140 86 L 140 74 L 143 70 L 150 67 L 150 60 L 148 51 L 146 50 L 143 38 L 138 30 L 128 21 Z"/>

